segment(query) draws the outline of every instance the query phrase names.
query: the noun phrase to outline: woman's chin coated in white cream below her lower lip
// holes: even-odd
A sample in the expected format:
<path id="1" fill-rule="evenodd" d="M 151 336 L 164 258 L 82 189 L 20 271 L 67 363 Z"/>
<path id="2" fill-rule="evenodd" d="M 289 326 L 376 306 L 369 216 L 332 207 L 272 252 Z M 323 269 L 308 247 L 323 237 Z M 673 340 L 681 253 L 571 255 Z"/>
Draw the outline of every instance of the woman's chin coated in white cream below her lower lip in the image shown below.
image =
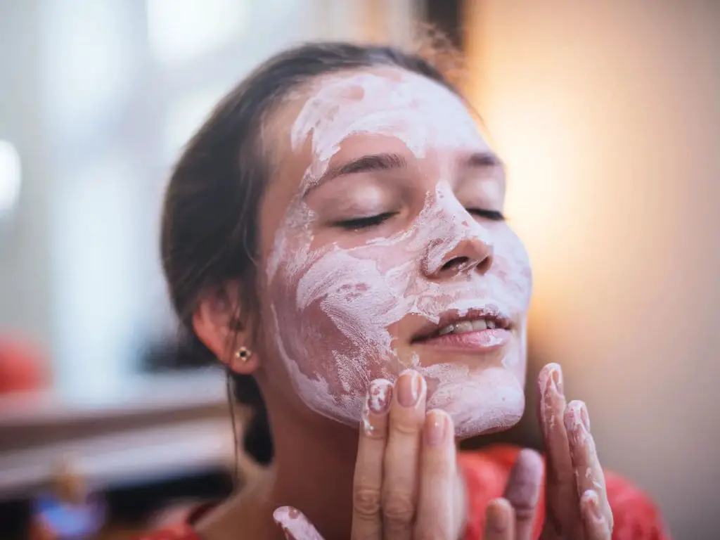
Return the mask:
<path id="1" fill-rule="evenodd" d="M 467 367 L 462 370 L 457 366 L 449 371 L 438 374 L 428 395 L 428 410 L 446 411 L 453 420 L 456 438 L 504 431 L 520 421 L 525 410 L 525 392 L 507 369 L 470 373 Z"/>

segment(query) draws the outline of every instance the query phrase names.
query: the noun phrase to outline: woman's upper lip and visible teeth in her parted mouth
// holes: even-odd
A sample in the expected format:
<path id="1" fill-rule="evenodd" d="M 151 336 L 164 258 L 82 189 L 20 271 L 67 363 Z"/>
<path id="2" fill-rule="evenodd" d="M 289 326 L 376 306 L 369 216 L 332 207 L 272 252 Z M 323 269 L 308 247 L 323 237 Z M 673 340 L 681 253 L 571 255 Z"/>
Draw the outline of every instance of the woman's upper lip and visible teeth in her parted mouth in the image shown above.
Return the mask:
<path id="1" fill-rule="evenodd" d="M 495 308 L 473 308 L 451 310 L 443 313 L 437 323 L 428 322 L 412 339 L 412 343 L 437 341 L 440 338 L 452 339 L 466 334 L 507 334 L 513 329 L 513 320 L 509 315 Z"/>

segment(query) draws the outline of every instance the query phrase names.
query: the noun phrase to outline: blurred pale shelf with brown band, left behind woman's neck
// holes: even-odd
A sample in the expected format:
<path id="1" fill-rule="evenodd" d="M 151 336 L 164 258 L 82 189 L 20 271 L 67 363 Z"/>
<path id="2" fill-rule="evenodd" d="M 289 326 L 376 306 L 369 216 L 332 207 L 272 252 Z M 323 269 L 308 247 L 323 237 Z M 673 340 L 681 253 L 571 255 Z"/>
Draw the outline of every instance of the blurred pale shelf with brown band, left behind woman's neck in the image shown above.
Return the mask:
<path id="1" fill-rule="evenodd" d="M 217 373 L 140 377 L 121 399 L 0 400 L 0 501 L 48 485 L 61 459 L 90 487 L 147 485 L 230 469 L 233 434 Z"/>

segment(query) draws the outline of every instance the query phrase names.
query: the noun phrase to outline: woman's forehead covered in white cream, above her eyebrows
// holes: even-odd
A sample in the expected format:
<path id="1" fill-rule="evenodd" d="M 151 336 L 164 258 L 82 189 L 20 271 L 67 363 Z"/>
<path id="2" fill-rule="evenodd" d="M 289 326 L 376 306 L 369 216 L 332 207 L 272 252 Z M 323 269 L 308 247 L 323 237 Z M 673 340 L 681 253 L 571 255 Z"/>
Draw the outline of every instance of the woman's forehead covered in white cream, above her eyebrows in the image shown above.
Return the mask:
<path id="1" fill-rule="evenodd" d="M 359 135 L 399 138 L 418 157 L 429 149 L 489 150 L 459 96 L 399 68 L 320 76 L 281 109 L 282 146 L 292 153 L 309 146 L 315 161 L 328 161 L 343 140 Z"/>

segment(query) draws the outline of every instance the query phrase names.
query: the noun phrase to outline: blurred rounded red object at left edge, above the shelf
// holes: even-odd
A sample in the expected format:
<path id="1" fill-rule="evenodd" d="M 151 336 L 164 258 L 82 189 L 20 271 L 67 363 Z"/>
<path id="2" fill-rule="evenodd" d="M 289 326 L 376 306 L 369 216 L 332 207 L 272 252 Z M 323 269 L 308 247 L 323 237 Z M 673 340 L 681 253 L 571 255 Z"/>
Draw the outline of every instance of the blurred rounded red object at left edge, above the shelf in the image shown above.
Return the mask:
<path id="1" fill-rule="evenodd" d="M 42 390 L 48 382 L 48 364 L 27 341 L 0 336 L 0 395 Z"/>

